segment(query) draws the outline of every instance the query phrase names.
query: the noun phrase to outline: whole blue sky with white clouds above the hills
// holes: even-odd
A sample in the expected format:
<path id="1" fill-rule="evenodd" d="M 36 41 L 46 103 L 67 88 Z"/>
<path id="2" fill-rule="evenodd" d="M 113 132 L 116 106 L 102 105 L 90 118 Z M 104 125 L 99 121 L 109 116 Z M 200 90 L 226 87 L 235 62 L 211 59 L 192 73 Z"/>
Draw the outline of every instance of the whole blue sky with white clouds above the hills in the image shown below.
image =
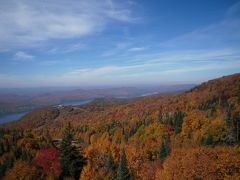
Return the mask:
<path id="1" fill-rule="evenodd" d="M 0 88 L 186 84 L 238 72 L 237 0 L 0 0 Z"/>

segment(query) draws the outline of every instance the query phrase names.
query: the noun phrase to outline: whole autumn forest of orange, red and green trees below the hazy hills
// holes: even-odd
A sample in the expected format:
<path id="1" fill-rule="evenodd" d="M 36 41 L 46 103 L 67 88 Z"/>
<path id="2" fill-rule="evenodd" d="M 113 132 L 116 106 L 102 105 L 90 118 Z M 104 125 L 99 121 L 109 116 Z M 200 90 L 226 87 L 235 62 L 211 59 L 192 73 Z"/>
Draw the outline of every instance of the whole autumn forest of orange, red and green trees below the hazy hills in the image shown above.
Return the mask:
<path id="1" fill-rule="evenodd" d="M 2 179 L 240 179 L 240 74 L 0 126 Z"/>

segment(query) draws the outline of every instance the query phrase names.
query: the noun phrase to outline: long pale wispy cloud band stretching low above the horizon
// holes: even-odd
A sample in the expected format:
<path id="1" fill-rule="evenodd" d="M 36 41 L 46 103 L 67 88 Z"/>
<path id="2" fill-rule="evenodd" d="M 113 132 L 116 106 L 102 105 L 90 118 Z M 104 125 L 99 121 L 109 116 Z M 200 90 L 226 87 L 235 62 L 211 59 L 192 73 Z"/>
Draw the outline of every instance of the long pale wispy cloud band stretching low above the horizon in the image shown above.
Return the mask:
<path id="1" fill-rule="evenodd" d="M 22 82 L 24 86 L 38 85 L 133 85 L 141 83 L 178 83 L 199 82 L 213 78 L 211 73 L 223 75 L 223 72 L 238 72 L 240 69 L 240 53 L 234 50 L 216 50 L 215 52 L 186 51 L 169 52 L 159 58 L 146 56 L 147 61 L 130 65 L 103 65 L 95 68 L 76 68 L 58 75 L 36 74 L 29 76 L 2 75 L 0 84 L 10 86 L 8 80 Z M 145 57 L 145 58 L 146 58 Z M 168 58 L 168 59 L 167 59 Z M 48 62 L 47 62 L 48 63 Z M 49 61 L 51 64 L 51 62 Z M 52 61 L 55 63 L 55 61 Z M 48 65 L 48 64 L 46 64 Z M 211 73 L 209 73 L 211 72 Z M 201 74 L 201 76 L 198 76 Z"/>

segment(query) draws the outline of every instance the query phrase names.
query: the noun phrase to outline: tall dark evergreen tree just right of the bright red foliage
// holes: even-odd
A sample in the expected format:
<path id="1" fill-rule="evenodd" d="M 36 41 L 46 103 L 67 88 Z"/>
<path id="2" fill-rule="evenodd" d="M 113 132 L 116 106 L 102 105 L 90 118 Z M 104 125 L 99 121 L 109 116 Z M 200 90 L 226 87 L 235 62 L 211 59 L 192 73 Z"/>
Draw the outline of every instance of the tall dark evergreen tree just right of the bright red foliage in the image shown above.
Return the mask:
<path id="1" fill-rule="evenodd" d="M 61 154 L 61 178 L 71 176 L 74 179 L 79 179 L 85 158 L 81 155 L 80 149 L 72 145 L 73 133 L 70 123 L 64 130 L 62 142 L 60 145 Z"/>

